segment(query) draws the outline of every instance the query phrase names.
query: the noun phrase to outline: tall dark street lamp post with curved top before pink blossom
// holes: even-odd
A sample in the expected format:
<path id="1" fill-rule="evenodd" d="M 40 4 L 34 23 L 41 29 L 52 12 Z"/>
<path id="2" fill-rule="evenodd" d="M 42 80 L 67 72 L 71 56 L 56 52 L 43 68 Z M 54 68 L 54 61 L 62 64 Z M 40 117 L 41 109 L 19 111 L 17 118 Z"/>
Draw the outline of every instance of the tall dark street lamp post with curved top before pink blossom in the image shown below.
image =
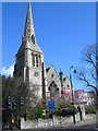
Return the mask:
<path id="1" fill-rule="evenodd" d="M 70 82 L 71 82 L 71 90 L 72 90 L 73 122 L 74 122 L 74 124 L 75 124 L 74 94 L 73 94 L 73 84 L 72 84 L 71 69 L 74 69 L 74 67 L 71 67 L 71 68 L 70 68 Z M 74 69 L 74 73 L 76 73 L 76 70 L 75 70 L 75 69 Z"/>

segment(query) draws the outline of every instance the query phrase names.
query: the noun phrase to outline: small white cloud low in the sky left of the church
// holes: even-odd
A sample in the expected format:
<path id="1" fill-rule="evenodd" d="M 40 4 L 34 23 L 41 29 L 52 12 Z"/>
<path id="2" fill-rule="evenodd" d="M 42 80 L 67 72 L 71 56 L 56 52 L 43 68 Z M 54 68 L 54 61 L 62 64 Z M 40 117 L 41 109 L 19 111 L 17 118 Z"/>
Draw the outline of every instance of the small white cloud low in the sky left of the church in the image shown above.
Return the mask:
<path id="1" fill-rule="evenodd" d="M 13 71 L 14 71 L 14 64 L 9 67 L 8 69 L 5 67 L 1 68 L 1 74 L 7 75 L 7 76 L 9 75 L 13 76 Z"/>

